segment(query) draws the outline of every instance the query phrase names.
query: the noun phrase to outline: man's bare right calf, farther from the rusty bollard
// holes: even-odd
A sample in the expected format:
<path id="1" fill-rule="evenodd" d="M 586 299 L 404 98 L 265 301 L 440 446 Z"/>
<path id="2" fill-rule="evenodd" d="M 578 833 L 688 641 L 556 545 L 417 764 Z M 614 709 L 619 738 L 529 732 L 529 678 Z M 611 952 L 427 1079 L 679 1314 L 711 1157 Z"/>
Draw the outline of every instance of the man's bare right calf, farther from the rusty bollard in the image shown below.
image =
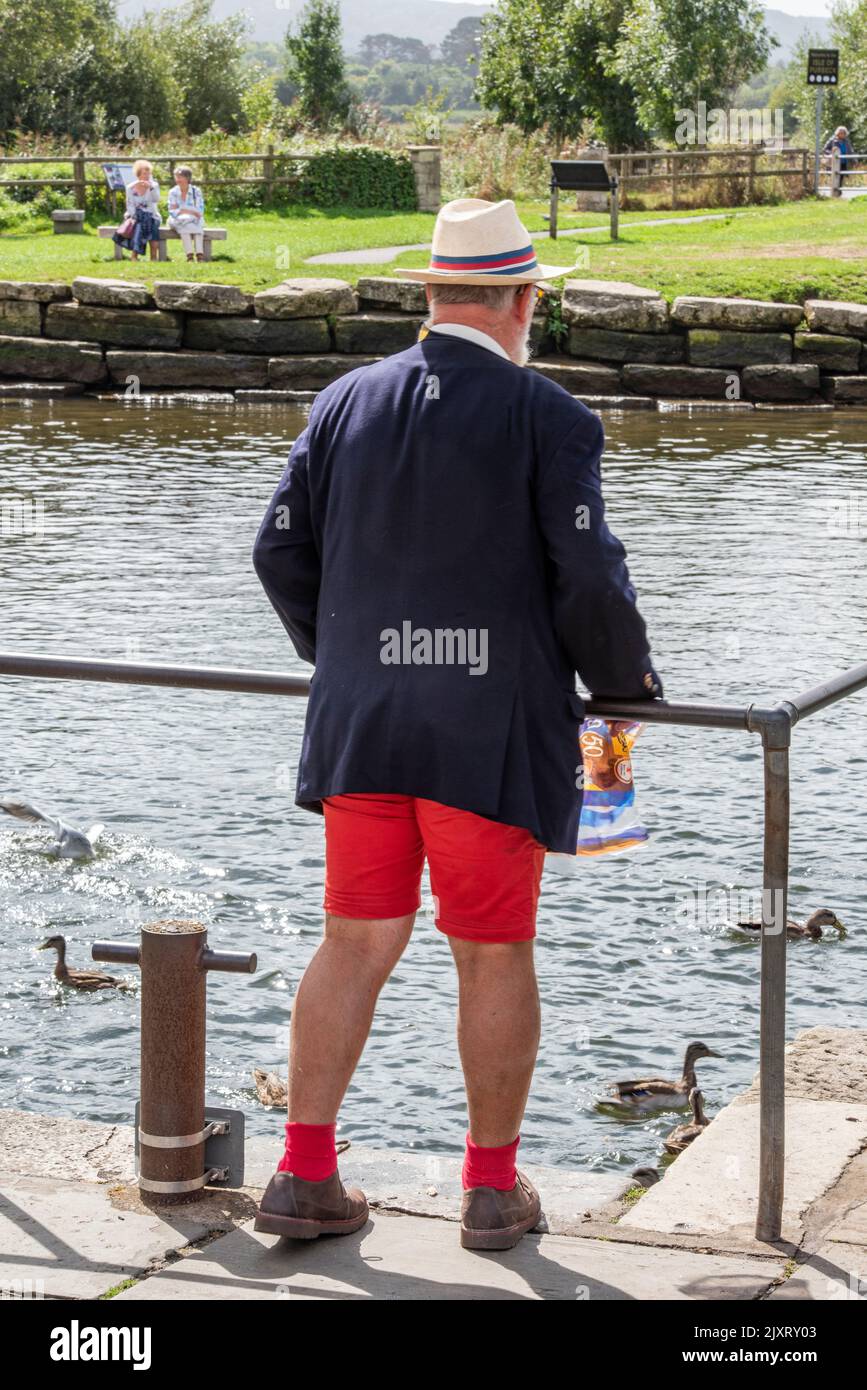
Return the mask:
<path id="1" fill-rule="evenodd" d="M 460 1049 L 475 1144 L 511 1144 L 521 1129 L 539 1047 L 532 941 L 449 937 L 457 965 Z"/>

